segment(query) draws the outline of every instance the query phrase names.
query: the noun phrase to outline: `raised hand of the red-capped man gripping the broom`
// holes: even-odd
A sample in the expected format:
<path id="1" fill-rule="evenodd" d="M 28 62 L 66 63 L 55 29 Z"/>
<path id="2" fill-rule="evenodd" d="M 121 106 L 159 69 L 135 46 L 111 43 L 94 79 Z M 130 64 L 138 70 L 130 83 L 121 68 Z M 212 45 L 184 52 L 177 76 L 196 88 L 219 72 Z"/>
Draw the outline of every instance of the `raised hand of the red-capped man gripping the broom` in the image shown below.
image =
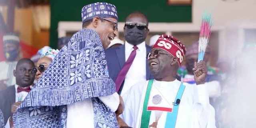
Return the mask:
<path id="1" fill-rule="evenodd" d="M 204 84 L 204 80 L 207 76 L 207 67 L 205 61 L 200 61 L 198 63 L 195 62 L 194 64 L 194 79 L 196 81 L 196 85 L 198 84 Z"/>

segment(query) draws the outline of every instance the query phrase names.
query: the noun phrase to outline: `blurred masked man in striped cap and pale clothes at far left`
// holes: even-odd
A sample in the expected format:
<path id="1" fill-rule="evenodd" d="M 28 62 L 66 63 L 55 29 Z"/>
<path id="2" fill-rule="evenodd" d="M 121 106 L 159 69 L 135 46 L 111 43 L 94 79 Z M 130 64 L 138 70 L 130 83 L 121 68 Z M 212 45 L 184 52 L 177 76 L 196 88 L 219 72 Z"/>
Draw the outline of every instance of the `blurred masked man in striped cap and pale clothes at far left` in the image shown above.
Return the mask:
<path id="1" fill-rule="evenodd" d="M 0 90 L 15 84 L 12 72 L 20 59 L 20 39 L 17 33 L 6 33 L 3 36 L 3 52 L 6 61 L 0 62 Z"/>

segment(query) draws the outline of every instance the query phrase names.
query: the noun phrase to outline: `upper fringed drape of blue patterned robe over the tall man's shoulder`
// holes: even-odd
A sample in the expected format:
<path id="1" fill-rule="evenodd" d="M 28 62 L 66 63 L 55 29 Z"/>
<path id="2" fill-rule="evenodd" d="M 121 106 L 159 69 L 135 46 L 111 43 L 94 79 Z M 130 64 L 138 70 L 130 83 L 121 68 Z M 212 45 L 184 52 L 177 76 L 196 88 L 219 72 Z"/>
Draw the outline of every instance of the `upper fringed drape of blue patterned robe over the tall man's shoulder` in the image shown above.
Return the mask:
<path id="1" fill-rule="evenodd" d="M 62 106 L 115 91 L 98 33 L 82 29 L 52 60 L 20 108 Z"/>

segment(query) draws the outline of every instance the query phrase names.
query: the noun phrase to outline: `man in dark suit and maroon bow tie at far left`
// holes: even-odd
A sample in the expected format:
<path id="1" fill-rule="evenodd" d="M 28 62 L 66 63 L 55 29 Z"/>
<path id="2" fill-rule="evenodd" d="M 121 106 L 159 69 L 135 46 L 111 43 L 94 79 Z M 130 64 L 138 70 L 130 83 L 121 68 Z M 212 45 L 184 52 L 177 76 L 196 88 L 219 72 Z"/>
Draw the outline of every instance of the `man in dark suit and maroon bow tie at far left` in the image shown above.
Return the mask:
<path id="1" fill-rule="evenodd" d="M 19 60 L 16 69 L 13 71 L 16 84 L 0 92 L 0 109 L 4 113 L 4 123 L 10 120 L 11 124 L 12 118 L 9 117 L 12 116 L 21 101 L 30 92 L 35 79 L 34 67 L 34 62 L 30 59 Z M 9 123 L 6 123 L 6 125 L 9 125 Z"/>

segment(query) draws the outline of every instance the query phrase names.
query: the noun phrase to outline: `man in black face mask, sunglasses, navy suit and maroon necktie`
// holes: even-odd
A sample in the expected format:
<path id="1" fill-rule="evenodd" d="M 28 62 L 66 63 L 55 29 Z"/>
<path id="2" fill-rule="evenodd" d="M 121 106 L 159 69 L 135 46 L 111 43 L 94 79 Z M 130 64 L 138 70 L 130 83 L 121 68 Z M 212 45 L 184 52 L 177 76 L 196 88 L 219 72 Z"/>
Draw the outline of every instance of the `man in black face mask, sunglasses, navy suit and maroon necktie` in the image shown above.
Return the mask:
<path id="1" fill-rule="evenodd" d="M 125 21 L 125 44 L 106 50 L 109 74 L 121 96 L 137 82 L 153 78 L 145 58 L 151 50 L 145 43 L 148 33 L 148 18 L 141 12 L 133 12 Z"/>

